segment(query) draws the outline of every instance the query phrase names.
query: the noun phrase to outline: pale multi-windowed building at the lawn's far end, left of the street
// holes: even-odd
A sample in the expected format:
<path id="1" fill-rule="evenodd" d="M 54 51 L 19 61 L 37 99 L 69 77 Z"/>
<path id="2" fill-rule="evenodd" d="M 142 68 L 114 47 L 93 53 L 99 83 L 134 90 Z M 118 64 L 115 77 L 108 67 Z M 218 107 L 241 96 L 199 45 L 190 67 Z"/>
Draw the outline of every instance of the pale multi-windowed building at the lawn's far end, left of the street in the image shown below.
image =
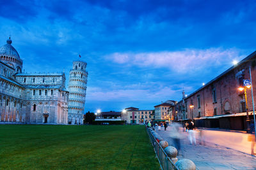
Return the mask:
<path id="1" fill-rule="evenodd" d="M 144 124 L 145 122 L 154 120 L 154 110 L 139 110 L 138 108 L 125 108 L 122 111 L 122 120 L 127 124 Z"/>

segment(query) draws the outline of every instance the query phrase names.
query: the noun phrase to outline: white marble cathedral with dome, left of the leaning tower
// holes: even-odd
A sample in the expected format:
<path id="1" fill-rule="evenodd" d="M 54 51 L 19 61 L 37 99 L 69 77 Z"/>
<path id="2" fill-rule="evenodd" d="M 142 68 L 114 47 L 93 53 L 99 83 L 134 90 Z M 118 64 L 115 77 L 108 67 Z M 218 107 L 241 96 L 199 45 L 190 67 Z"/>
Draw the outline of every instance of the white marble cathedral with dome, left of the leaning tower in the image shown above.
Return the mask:
<path id="1" fill-rule="evenodd" d="M 23 61 L 11 45 L 0 47 L 0 118 L 4 123 L 67 124 L 64 73 L 22 73 Z"/>

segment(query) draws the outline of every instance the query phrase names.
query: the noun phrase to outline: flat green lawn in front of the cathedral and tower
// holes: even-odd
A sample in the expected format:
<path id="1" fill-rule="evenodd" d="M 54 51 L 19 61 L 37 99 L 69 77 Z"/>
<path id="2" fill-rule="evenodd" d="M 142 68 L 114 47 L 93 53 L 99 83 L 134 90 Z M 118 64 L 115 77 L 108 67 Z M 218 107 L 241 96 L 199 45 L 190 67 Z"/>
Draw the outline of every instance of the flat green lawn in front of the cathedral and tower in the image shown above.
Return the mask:
<path id="1" fill-rule="evenodd" d="M 159 169 L 144 126 L 0 125 L 1 169 Z"/>

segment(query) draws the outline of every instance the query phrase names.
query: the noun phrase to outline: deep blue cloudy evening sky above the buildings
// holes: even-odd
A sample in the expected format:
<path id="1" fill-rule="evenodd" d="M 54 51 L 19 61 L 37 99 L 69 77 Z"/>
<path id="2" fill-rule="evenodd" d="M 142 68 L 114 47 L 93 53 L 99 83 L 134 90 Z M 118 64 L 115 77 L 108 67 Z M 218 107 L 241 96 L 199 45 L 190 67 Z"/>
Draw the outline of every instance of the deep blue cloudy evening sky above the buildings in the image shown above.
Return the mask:
<path id="1" fill-rule="evenodd" d="M 256 1 L 0 1 L 25 72 L 87 62 L 85 111 L 153 110 L 256 49 Z"/>

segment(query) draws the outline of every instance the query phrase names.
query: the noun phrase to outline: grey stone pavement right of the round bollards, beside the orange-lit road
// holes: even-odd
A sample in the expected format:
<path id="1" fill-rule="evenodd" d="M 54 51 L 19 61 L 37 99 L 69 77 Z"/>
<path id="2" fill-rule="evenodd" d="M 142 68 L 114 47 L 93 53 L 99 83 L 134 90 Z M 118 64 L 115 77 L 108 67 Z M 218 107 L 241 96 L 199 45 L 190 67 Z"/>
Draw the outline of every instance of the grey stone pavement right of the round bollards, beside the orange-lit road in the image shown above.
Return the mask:
<path id="1" fill-rule="evenodd" d="M 173 140 L 170 138 L 170 127 L 167 131 L 161 129 L 156 131 L 164 140 L 168 141 L 169 145 L 173 145 Z M 232 150 L 225 146 L 215 145 L 214 143 L 205 143 L 199 145 L 190 145 L 188 132 L 182 132 L 185 136 L 180 140 L 180 152 L 178 159 L 186 158 L 192 160 L 196 169 L 256 169 L 256 157 L 246 153 Z"/>

